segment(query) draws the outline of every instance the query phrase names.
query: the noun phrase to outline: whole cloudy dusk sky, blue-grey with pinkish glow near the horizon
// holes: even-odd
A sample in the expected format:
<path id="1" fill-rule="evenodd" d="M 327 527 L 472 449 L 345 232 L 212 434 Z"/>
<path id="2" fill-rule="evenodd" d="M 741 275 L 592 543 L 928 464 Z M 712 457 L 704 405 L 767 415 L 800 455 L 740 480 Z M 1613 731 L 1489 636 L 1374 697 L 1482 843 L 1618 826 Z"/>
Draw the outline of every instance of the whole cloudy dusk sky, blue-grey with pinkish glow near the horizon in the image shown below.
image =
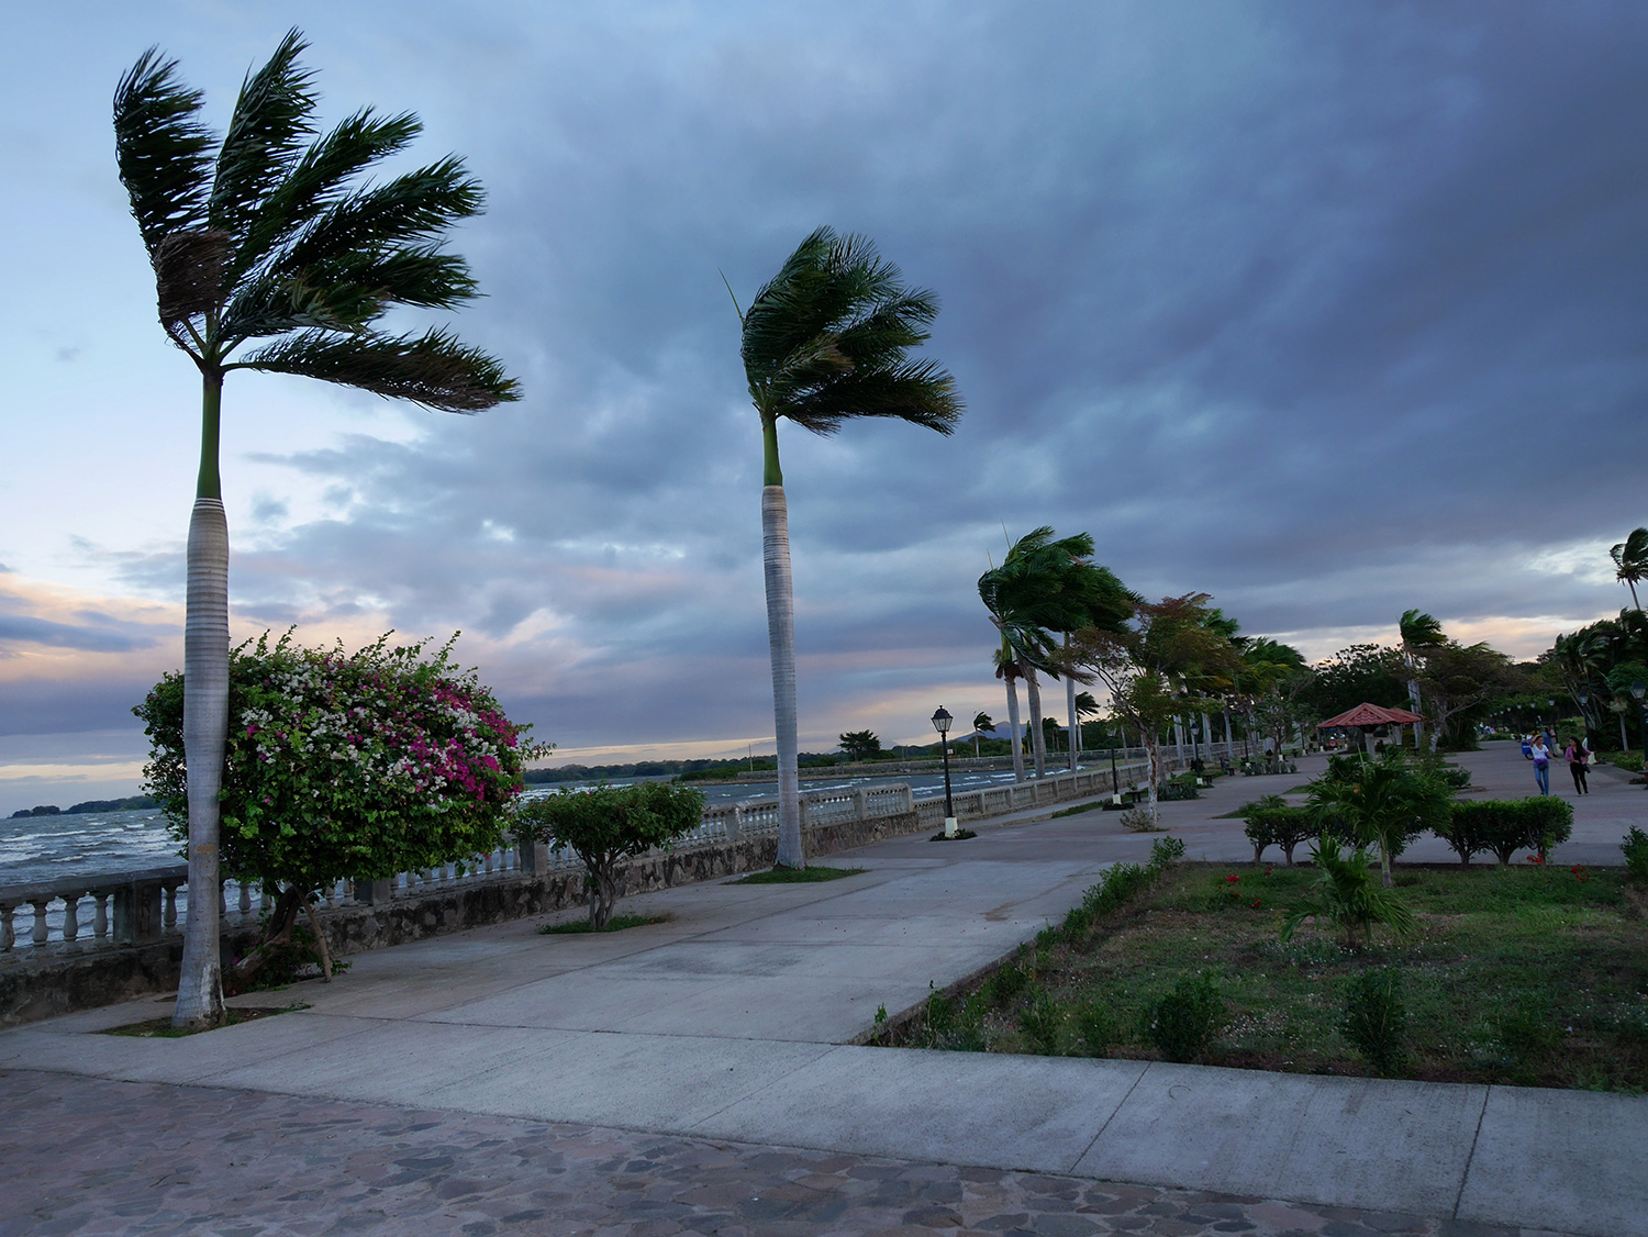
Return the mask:
<path id="1" fill-rule="evenodd" d="M 489 212 L 458 418 L 231 376 L 237 633 L 445 637 L 560 759 L 771 745 L 748 300 L 819 224 L 943 311 L 957 433 L 788 430 L 801 745 L 1004 712 L 974 580 L 1088 530 L 1323 656 L 1424 608 L 1518 656 L 1648 522 L 1636 3 L 23 7 L 0 77 L 0 812 L 137 789 L 181 662 L 198 379 L 109 99 L 221 127 L 290 23 L 333 122 L 417 110 Z"/>

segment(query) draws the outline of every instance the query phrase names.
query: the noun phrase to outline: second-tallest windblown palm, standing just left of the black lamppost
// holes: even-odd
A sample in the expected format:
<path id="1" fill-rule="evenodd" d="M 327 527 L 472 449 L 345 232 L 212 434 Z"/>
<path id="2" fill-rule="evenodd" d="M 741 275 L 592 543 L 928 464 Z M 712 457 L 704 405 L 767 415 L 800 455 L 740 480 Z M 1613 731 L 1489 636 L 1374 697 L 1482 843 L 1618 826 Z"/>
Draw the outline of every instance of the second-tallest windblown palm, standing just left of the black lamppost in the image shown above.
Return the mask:
<path id="1" fill-rule="evenodd" d="M 737 308 L 737 298 L 733 298 Z M 855 417 L 897 417 L 951 433 L 961 418 L 954 379 L 936 361 L 911 361 L 938 298 L 901 283 L 862 236 L 821 227 L 755 293 L 743 326 L 743 372 L 761 417 L 761 558 L 766 637 L 778 730 L 778 866 L 804 868 L 796 774 L 794 585 L 789 512 L 778 466 L 778 422 L 836 433 Z"/>

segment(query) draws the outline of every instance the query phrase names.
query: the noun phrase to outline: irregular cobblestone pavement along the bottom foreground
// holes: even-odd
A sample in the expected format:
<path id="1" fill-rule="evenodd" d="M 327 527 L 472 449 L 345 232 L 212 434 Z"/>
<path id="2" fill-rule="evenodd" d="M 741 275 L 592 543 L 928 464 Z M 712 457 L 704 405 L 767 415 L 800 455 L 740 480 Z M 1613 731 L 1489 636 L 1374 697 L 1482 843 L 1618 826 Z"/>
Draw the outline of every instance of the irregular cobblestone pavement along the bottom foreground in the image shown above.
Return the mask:
<path id="1" fill-rule="evenodd" d="M 0 1235 L 1524 1230 L 389 1105 L 0 1071 Z"/>

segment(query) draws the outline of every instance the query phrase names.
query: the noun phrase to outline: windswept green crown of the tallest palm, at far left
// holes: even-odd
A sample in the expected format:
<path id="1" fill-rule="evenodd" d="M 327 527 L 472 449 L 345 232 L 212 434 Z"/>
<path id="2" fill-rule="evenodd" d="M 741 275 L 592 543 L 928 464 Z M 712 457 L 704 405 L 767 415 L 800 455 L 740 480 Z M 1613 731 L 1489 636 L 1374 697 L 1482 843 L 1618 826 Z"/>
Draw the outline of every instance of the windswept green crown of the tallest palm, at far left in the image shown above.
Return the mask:
<path id="1" fill-rule="evenodd" d="M 115 91 L 120 178 L 166 333 L 208 376 L 270 369 L 452 412 L 517 399 L 493 357 L 440 331 L 372 333 L 397 305 L 450 310 L 478 295 L 442 240 L 485 196 L 455 156 L 358 184 L 420 125 L 368 109 L 316 137 L 305 46 L 293 30 L 246 76 L 221 143 L 196 119 L 199 92 L 158 53 Z M 234 359 L 252 339 L 277 343 Z"/>

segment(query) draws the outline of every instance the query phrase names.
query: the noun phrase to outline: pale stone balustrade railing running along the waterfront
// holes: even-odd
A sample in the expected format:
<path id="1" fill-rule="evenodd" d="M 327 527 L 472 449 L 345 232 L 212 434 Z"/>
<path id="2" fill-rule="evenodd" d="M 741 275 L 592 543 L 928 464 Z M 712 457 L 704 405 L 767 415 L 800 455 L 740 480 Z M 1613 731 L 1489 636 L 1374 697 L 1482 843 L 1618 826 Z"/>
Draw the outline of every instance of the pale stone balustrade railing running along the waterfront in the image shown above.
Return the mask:
<path id="1" fill-rule="evenodd" d="M 1206 749 L 1208 745 L 1203 745 Z M 1224 745 L 1211 745 L 1215 753 Z M 1103 756 L 1104 753 L 1101 753 Z M 1091 753 L 1089 753 L 1091 756 Z M 1168 766 L 1178 764 L 1175 759 Z M 1147 766 L 1139 759 L 1117 763 L 1117 784 L 1142 781 Z M 984 820 L 1038 804 L 1078 799 L 1111 791 L 1109 768 L 1060 773 L 1028 782 L 990 786 L 951 796 L 959 820 Z M 873 820 L 915 812 L 920 827 L 941 827 L 943 792 L 916 799 L 910 786 L 864 786 L 817 791 L 801 796 L 803 829 L 822 829 L 849 820 Z M 679 837 L 671 850 L 687 852 L 722 847 L 743 838 L 778 833 L 778 799 L 747 799 L 714 804 L 697 827 Z M 335 881 L 320 891 L 320 909 L 331 911 L 394 898 L 422 898 L 445 889 L 513 880 L 522 875 L 547 876 L 582 868 L 577 855 L 560 847 L 524 842 L 476 855 L 468 863 L 447 863 L 427 871 L 402 871 L 387 881 Z M 255 885 L 224 881 L 221 894 L 224 924 L 250 926 L 269 911 L 270 898 Z M 53 954 L 77 954 L 119 945 L 160 941 L 181 931 L 188 913 L 188 866 L 183 863 L 147 871 L 104 873 L 40 885 L 0 886 L 0 957 L 26 959 L 48 945 Z"/>

